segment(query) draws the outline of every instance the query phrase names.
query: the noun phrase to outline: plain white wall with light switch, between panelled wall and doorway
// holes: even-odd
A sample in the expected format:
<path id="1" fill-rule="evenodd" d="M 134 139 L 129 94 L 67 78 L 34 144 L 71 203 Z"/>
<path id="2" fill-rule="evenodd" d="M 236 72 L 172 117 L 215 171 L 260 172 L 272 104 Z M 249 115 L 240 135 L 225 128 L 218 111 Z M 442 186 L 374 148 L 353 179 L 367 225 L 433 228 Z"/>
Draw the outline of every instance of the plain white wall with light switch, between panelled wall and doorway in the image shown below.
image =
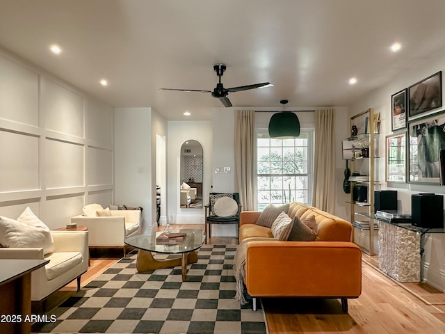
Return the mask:
<path id="1" fill-rule="evenodd" d="M 156 226 L 156 134 L 166 122 L 152 108 L 116 108 L 115 204 L 143 208 L 142 232 Z"/>

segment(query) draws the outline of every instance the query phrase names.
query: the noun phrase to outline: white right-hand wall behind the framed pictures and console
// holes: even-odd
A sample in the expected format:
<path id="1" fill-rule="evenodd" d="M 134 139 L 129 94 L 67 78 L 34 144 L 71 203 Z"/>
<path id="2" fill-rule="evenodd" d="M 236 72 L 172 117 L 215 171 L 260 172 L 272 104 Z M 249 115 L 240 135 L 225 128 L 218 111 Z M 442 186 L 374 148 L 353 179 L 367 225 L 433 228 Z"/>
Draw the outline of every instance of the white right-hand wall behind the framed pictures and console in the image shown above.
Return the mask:
<path id="1" fill-rule="evenodd" d="M 389 84 L 375 90 L 369 95 L 363 96 L 350 106 L 350 116 L 369 108 L 373 108 L 374 113 L 380 113 L 379 152 L 381 157 L 385 156 L 385 136 L 392 134 L 391 95 L 441 70 L 445 71 L 445 56 L 443 51 L 432 54 L 429 58 L 422 59 L 398 77 L 394 77 Z M 444 94 L 443 90 L 444 88 L 442 88 L 442 95 Z M 443 109 L 444 107 L 438 110 Z M 349 131 L 350 129 L 346 128 L 343 136 L 349 136 Z M 378 166 L 378 175 L 382 182 L 382 189 L 394 189 L 398 191 L 398 209 L 403 213 L 411 213 L 411 196 L 413 193 L 445 193 L 445 186 L 387 184 L 385 182 L 385 159 L 376 159 L 376 165 Z M 423 248 L 425 248 L 421 264 L 422 277 L 430 283 L 430 285 L 445 291 L 445 234 L 426 234 L 422 237 L 422 241 Z"/>

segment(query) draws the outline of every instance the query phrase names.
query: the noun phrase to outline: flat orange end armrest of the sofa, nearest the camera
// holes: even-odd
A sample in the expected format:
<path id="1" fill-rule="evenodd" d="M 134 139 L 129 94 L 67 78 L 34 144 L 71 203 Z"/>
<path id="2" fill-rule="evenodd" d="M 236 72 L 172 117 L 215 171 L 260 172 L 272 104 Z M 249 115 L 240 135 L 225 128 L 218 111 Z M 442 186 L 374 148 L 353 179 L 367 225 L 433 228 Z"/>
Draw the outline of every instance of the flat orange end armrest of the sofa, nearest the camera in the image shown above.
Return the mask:
<path id="1" fill-rule="evenodd" d="M 348 241 L 251 241 L 245 285 L 251 296 L 357 297 L 362 251 Z"/>

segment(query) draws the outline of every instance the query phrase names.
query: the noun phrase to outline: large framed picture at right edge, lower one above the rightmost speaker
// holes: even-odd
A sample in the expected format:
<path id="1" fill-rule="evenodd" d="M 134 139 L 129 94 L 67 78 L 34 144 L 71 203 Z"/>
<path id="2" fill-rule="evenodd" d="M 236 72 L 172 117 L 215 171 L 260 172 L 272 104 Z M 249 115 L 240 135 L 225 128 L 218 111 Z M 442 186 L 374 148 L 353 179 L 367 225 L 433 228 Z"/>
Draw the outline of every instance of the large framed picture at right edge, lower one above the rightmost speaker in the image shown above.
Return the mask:
<path id="1" fill-rule="evenodd" d="M 440 184 L 439 150 L 445 149 L 445 113 L 408 123 L 408 175 L 410 183 Z"/>

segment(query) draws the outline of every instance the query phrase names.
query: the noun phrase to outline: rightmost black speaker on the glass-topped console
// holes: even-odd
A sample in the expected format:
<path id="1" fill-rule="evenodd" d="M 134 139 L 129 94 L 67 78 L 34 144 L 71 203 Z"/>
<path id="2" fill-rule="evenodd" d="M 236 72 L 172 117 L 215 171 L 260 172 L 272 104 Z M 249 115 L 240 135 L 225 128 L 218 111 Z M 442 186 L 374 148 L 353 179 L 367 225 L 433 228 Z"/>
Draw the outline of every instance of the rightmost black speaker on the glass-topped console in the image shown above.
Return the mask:
<path id="1" fill-rule="evenodd" d="M 444 228 L 444 196 L 418 193 L 411 196 L 412 225 L 419 228 Z"/>

